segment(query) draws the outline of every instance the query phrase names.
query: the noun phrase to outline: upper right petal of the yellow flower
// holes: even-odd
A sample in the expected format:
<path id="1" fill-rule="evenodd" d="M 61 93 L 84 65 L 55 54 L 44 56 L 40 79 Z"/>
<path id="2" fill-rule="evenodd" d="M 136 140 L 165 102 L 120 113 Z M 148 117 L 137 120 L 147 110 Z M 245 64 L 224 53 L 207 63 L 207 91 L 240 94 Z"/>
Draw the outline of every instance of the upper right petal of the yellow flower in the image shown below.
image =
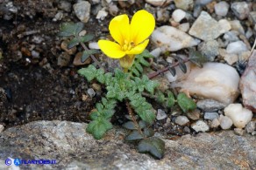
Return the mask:
<path id="1" fill-rule="evenodd" d="M 155 20 L 151 13 L 146 10 L 137 11 L 132 17 L 131 33 L 134 44 L 140 44 L 149 37 L 154 29 Z"/>

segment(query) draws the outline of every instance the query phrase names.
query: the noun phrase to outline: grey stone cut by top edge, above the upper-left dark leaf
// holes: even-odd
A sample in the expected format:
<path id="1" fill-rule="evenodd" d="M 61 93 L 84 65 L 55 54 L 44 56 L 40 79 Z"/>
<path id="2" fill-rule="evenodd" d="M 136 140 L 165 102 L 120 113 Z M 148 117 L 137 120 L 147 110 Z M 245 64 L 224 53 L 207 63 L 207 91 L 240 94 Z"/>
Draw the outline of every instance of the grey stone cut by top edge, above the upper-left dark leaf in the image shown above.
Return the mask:
<path id="1" fill-rule="evenodd" d="M 73 8 L 76 17 L 78 17 L 83 23 L 87 23 L 89 21 L 90 3 L 88 1 L 75 3 Z"/>

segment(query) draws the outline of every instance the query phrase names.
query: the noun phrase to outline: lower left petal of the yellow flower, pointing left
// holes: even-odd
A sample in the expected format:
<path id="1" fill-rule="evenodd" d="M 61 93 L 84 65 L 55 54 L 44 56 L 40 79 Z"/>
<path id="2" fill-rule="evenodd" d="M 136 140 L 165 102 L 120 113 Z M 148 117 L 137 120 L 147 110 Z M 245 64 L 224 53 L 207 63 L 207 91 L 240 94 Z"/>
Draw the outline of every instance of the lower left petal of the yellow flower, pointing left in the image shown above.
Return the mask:
<path id="1" fill-rule="evenodd" d="M 117 43 L 108 40 L 99 40 L 98 45 L 109 58 L 123 58 L 125 55 L 125 52 L 122 51 L 121 46 Z"/>

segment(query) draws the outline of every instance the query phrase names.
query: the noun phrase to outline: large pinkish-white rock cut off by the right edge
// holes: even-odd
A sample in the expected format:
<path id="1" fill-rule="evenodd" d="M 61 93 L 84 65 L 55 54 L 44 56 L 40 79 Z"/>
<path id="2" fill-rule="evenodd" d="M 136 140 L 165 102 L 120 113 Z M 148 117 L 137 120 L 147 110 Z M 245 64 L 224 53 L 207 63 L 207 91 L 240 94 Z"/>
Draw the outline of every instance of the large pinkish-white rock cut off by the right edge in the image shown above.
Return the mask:
<path id="1" fill-rule="evenodd" d="M 256 51 L 252 52 L 248 65 L 240 79 L 239 87 L 245 107 L 256 112 Z"/>

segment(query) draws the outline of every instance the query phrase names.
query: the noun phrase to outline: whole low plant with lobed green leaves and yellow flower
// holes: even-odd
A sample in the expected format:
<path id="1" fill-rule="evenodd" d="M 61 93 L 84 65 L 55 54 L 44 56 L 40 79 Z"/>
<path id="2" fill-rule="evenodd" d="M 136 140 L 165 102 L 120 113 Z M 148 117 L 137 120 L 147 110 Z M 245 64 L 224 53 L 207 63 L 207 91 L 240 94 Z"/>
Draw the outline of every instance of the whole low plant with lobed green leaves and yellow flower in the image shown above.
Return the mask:
<path id="1" fill-rule="evenodd" d="M 176 66 L 179 66 L 181 71 L 186 72 L 186 62 L 191 61 L 198 66 L 202 66 L 204 60 L 200 53 L 191 49 L 189 50 L 189 58 L 182 59 L 174 56 L 176 62 L 174 62 L 173 65 L 168 65 L 164 69 L 148 75 L 144 74 L 144 67 L 151 66 L 148 59 L 153 58 L 153 55 L 145 50 L 148 39 L 143 41 L 144 43 L 142 44 L 139 42 L 147 38 L 148 33 L 149 35 L 151 34 L 154 28 L 154 20 L 153 16 L 146 12 L 146 10 L 139 10 L 134 17 L 135 19 L 132 20 L 132 22 L 137 24 L 135 26 L 133 25 L 134 31 L 138 31 L 139 29 L 140 22 L 136 21 L 137 19 L 150 17 L 148 23 L 151 25 L 151 28 L 146 27 L 146 34 L 144 34 L 143 29 L 137 34 L 133 32 L 134 35 L 128 34 L 127 32 L 121 32 L 119 34 L 115 32 L 117 31 L 116 27 L 112 27 L 111 24 L 119 24 L 120 27 L 125 25 L 129 29 L 132 25 L 129 25 L 129 23 L 125 24 L 125 22 L 129 22 L 129 18 L 126 15 L 121 15 L 115 17 L 113 21 L 110 22 L 110 33 L 114 34 L 112 37 L 116 38 L 119 44 L 108 40 L 100 40 L 98 42 L 101 50 L 105 54 L 110 58 L 118 58 L 120 60 L 120 65 L 123 67 L 124 71 L 116 68 L 114 72 L 107 72 L 102 68 L 94 56 L 94 54 L 99 51 L 89 50 L 85 45 L 86 42 L 92 40 L 93 36 L 79 35 L 83 28 L 82 23 L 62 24 L 60 26 L 59 36 L 70 38 L 68 48 L 72 48 L 77 44 L 82 45 L 84 49 L 81 59 L 82 62 L 90 57 L 95 61 L 96 66 L 89 65 L 87 68 L 80 69 L 78 73 L 89 82 L 98 81 L 106 90 L 105 97 L 103 97 L 100 102 L 96 103 L 96 109 L 89 114 L 91 121 L 87 127 L 87 132 L 91 133 L 96 139 L 102 139 L 103 135 L 112 128 L 111 118 L 116 113 L 115 107 L 118 103 L 124 102 L 129 116 L 126 117 L 128 121 L 124 123 L 123 127 L 131 131 L 131 133 L 125 137 L 125 140 L 137 143 L 139 153 L 150 153 L 154 158 L 161 159 L 165 152 L 165 142 L 154 136 L 152 126 L 156 119 L 156 111 L 147 99 L 154 99 L 166 108 L 172 108 L 174 104 L 177 103 L 182 112 L 194 110 L 196 104 L 184 93 L 179 93 L 174 96 L 174 93 L 171 91 L 161 92 L 158 89 L 160 85 L 159 82 L 152 80 L 152 78 L 165 71 L 170 71 L 175 75 Z M 124 27 L 124 30 L 127 30 L 127 28 Z M 123 30 L 120 29 L 118 31 Z M 132 42 L 127 42 L 126 40 L 123 42 L 122 34 L 128 39 L 132 39 Z M 143 36 L 139 37 L 138 40 L 135 35 L 138 36 L 140 34 Z M 135 43 L 136 41 L 137 43 Z"/>

